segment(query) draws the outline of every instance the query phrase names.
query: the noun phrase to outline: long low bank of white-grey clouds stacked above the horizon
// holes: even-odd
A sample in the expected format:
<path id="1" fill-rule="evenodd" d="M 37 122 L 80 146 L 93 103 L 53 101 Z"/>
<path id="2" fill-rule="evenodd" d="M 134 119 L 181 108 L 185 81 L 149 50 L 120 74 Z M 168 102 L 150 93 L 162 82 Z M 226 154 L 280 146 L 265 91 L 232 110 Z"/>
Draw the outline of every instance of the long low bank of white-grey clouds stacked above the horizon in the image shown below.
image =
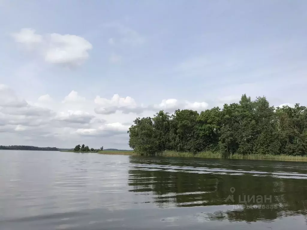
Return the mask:
<path id="1" fill-rule="evenodd" d="M 84 144 L 94 148 L 114 143 L 117 146 L 108 148 L 127 149 L 127 130 L 136 117 L 150 116 L 159 110 L 200 111 L 207 107 L 206 102 L 174 98 L 143 105 L 130 96 L 120 97 L 119 94 L 111 98 L 87 99 L 75 90 L 63 100 L 44 94 L 36 101 L 28 102 L 18 98 L 8 86 L 0 85 L 0 138 L 8 144 L 49 143 L 59 148 L 72 148 L 84 140 Z"/>

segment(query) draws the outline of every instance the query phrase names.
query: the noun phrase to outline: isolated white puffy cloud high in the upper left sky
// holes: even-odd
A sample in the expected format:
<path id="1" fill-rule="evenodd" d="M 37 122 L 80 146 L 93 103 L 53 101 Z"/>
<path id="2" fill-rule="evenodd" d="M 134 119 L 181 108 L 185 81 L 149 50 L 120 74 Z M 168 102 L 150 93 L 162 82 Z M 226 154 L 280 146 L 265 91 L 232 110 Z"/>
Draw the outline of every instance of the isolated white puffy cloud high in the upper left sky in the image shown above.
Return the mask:
<path id="1" fill-rule="evenodd" d="M 31 51 L 36 51 L 47 62 L 64 65 L 80 65 L 89 58 L 92 44 L 83 37 L 50 33 L 37 34 L 34 29 L 24 28 L 12 33 L 13 39 Z"/>

